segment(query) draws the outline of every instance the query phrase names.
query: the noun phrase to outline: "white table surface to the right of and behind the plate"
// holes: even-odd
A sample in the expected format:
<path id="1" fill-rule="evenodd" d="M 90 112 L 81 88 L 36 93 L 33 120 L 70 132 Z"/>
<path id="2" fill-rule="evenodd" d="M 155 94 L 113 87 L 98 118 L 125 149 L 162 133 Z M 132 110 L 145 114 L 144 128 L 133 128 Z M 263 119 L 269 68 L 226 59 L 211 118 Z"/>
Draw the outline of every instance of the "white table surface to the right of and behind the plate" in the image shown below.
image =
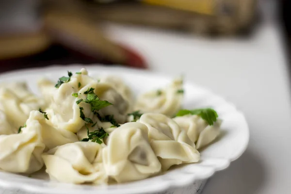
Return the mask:
<path id="1" fill-rule="evenodd" d="M 218 172 L 203 194 L 291 193 L 291 96 L 280 31 L 263 24 L 244 40 L 207 40 L 170 32 L 109 26 L 110 36 L 145 55 L 152 71 L 210 88 L 245 113 L 247 150 Z"/>

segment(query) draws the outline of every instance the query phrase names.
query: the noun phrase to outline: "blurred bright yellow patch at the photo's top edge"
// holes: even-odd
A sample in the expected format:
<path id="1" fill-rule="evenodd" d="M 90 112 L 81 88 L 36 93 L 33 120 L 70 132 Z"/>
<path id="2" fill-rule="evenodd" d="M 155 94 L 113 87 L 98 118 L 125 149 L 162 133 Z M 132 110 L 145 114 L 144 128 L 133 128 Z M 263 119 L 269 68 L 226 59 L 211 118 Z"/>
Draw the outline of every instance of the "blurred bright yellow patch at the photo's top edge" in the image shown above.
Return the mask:
<path id="1" fill-rule="evenodd" d="M 215 0 L 142 0 L 153 5 L 162 5 L 199 14 L 214 15 Z"/>

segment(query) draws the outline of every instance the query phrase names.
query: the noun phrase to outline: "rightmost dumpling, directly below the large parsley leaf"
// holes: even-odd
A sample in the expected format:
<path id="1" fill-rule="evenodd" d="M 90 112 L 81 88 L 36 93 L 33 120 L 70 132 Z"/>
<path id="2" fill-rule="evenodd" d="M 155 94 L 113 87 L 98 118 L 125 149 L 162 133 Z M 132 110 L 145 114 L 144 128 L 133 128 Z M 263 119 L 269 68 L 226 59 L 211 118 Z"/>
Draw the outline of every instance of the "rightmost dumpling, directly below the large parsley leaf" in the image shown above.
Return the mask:
<path id="1" fill-rule="evenodd" d="M 173 118 L 179 127 L 187 132 L 188 137 L 195 143 L 196 149 L 209 145 L 220 133 L 221 120 L 214 122 L 213 126 L 197 115 L 184 115 Z"/>

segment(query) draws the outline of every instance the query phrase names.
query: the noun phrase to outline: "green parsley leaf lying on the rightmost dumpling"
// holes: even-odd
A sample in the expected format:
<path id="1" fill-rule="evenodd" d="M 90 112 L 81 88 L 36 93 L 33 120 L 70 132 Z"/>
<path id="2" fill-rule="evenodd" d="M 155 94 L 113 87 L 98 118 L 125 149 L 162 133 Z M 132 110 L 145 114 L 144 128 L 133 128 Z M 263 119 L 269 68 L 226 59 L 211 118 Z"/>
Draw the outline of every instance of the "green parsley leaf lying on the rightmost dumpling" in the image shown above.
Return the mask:
<path id="1" fill-rule="evenodd" d="M 205 120 L 209 125 L 213 125 L 214 122 L 216 122 L 216 119 L 218 118 L 218 114 L 216 111 L 210 108 L 206 109 L 194 109 L 194 110 L 180 110 L 176 116 L 184 116 L 186 114 L 194 114 L 200 116 L 203 120 Z"/>

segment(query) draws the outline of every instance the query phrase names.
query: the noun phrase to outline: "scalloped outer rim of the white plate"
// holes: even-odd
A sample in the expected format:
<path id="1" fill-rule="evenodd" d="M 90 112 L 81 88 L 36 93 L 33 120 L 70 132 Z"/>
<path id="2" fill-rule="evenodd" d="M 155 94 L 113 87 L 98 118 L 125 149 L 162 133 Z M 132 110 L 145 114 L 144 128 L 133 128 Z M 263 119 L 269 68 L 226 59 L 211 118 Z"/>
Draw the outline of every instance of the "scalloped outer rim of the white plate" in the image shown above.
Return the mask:
<path id="1" fill-rule="evenodd" d="M 119 72 L 119 73 L 125 73 L 125 74 L 132 74 L 132 73 L 137 73 L 137 74 L 144 74 L 144 75 L 148 75 L 151 77 L 159 77 L 159 78 L 163 78 L 163 79 L 167 79 L 169 80 L 169 76 L 163 75 L 161 73 L 155 73 L 155 72 L 151 72 L 148 70 L 140 70 L 140 69 L 132 69 L 132 68 L 128 68 L 128 67 L 123 67 L 123 66 L 105 66 L 105 65 L 100 65 L 97 64 L 98 66 L 91 66 L 91 65 L 80 65 L 80 64 L 72 64 L 72 65 L 51 65 L 51 66 L 46 66 L 46 67 L 37 67 L 37 68 L 29 68 L 29 69 L 20 69 L 20 70 L 16 70 L 16 71 L 10 71 L 10 72 L 4 72 L 0 74 L 0 82 L 2 81 L 2 79 L 6 80 L 7 78 L 9 78 L 10 76 L 15 77 L 19 74 L 37 74 L 37 72 L 40 71 L 45 71 L 45 73 L 47 74 L 48 72 L 53 72 L 53 71 L 58 71 L 58 70 L 66 70 L 66 69 L 76 69 L 76 68 L 82 68 L 85 67 L 88 69 L 89 73 L 90 70 L 96 71 L 96 70 L 100 70 L 102 71 L 112 71 L 112 72 Z M 96 193 L 98 191 L 98 194 L 113 194 L 116 193 L 117 191 L 119 192 L 119 194 L 149 194 L 149 193 L 153 193 L 153 192 L 162 192 L 165 191 L 167 189 L 170 188 L 174 188 L 174 187 L 182 187 L 182 186 L 188 186 L 189 184 L 193 184 L 195 180 L 198 179 L 205 179 L 205 178 L 210 178 L 211 176 L 213 176 L 213 174 L 217 171 L 220 170 L 224 170 L 226 169 L 231 162 L 235 161 L 236 159 L 238 159 L 242 153 L 246 150 L 248 142 L 249 142 L 249 129 L 248 129 L 248 125 L 246 122 L 246 119 L 243 115 L 243 113 L 241 111 L 238 111 L 236 109 L 236 107 L 232 104 L 227 102 L 223 97 L 219 96 L 219 95 L 215 95 L 213 94 L 208 88 L 205 87 L 201 87 L 199 85 L 194 84 L 193 82 L 186 82 L 187 84 L 190 84 L 191 86 L 194 86 L 195 88 L 199 88 L 201 90 L 204 90 L 205 92 L 209 93 L 209 95 L 214 96 L 214 97 L 219 97 L 221 99 L 224 100 L 224 103 L 229 105 L 230 107 L 232 107 L 234 109 L 234 112 L 236 112 L 236 114 L 240 114 L 242 116 L 243 122 L 245 124 L 244 129 L 245 129 L 245 139 L 243 141 L 243 145 L 241 146 L 241 150 L 239 150 L 236 154 L 234 154 L 231 158 L 223 158 L 222 160 L 224 160 L 224 165 L 222 166 L 211 166 L 212 168 L 210 168 L 210 172 L 208 174 L 206 174 L 205 176 L 201 176 L 197 177 L 195 174 L 191 174 L 188 173 L 188 175 L 191 175 L 191 178 L 189 181 L 187 182 L 176 182 L 175 179 L 172 180 L 167 180 L 162 182 L 162 184 L 158 185 L 158 186 L 154 186 L 152 188 L 148 188 L 146 186 L 141 187 L 142 189 L 144 189 L 143 191 L 140 190 L 136 190 L 133 188 L 133 190 L 127 189 L 127 190 L 104 190 L 104 191 L 98 191 L 98 190 L 88 190 L 88 189 L 83 189 L 83 190 L 78 190 L 74 193 L 72 193 L 72 189 L 70 189 L 70 191 L 62 191 L 62 190 L 58 190 L 56 188 L 53 187 L 44 187 L 44 186 L 38 186 L 38 185 L 33 185 L 31 183 L 19 183 L 19 181 L 16 184 L 16 182 L 10 181 L 10 180 L 5 180 L 3 179 L 3 176 L 5 177 L 5 172 L 1 172 L 0 171 L 0 186 L 3 188 L 9 188 L 9 189 L 21 189 L 27 192 L 33 192 L 33 193 L 47 193 L 47 194 L 52 194 L 52 193 L 61 193 L 61 194 L 77 194 L 79 192 L 86 192 L 86 194 L 93 194 Z M 191 164 L 187 164 L 187 165 L 191 165 Z M 175 170 L 173 170 L 174 172 Z M 19 176 L 19 175 L 12 175 L 10 173 L 8 173 L 8 176 Z M 164 175 L 160 175 L 160 176 L 164 176 Z M 24 179 L 26 179 L 26 177 L 22 177 Z M 155 178 L 155 177 L 154 177 Z M 189 178 L 189 177 L 188 177 Z M 150 178 L 148 178 L 150 179 Z M 41 180 L 36 180 L 33 179 L 33 181 L 41 181 Z M 138 184 L 139 181 L 135 181 L 133 182 L 133 184 Z M 57 183 L 56 184 L 62 184 L 63 183 Z M 127 183 L 127 184 L 131 184 L 131 183 Z M 72 185 L 67 184 L 69 187 L 72 187 Z M 118 185 L 115 185 L 118 186 Z M 91 186 L 92 187 L 92 186 Z M 110 185 L 108 186 L 110 187 Z"/>

